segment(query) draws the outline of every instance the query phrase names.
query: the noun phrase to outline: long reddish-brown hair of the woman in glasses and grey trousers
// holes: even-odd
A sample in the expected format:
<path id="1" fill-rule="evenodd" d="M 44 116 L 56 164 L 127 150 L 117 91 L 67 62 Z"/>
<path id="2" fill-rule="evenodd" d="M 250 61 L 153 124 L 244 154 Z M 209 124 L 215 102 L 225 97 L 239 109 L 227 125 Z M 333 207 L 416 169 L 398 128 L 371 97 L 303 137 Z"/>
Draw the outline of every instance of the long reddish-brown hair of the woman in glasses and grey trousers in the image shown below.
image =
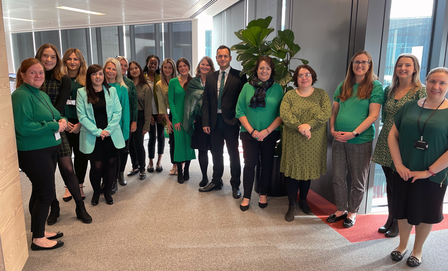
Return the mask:
<path id="1" fill-rule="evenodd" d="M 353 94 L 353 86 L 355 84 L 355 75 L 353 73 L 353 61 L 359 55 L 366 55 L 369 64 L 369 70 L 364 76 L 364 79 L 361 83 L 359 83 L 359 87 L 357 90 L 357 96 L 360 99 L 370 98 L 370 94 L 373 90 L 373 81 L 378 80 L 378 77 L 373 73 L 373 62 L 372 56 L 367 51 L 359 51 L 353 55 L 350 60 L 350 65 L 348 65 L 347 75 L 345 76 L 344 83 L 342 84 L 342 88 L 340 94 L 337 96 L 341 101 L 345 101 L 351 97 Z"/>

